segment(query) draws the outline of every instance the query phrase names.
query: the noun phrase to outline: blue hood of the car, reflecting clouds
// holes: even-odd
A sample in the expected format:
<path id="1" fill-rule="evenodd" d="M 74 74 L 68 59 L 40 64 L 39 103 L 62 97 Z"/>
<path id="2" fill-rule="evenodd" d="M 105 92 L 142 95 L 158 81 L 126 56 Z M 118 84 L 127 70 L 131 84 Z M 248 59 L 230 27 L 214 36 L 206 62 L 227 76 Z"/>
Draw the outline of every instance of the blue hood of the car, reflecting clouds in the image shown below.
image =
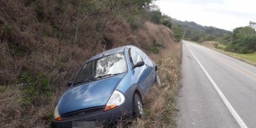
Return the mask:
<path id="1" fill-rule="evenodd" d="M 58 103 L 60 115 L 79 109 L 104 106 L 125 74 L 119 74 L 69 88 Z"/>

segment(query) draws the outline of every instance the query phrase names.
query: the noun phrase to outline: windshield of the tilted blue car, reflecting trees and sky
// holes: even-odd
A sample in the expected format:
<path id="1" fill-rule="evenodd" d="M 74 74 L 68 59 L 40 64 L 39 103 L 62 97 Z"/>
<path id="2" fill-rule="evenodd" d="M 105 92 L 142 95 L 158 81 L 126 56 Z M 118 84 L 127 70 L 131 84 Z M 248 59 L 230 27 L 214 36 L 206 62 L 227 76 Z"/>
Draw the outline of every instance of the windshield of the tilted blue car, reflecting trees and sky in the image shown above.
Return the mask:
<path id="1" fill-rule="evenodd" d="M 127 72 L 127 63 L 124 52 L 119 52 L 85 63 L 78 73 L 74 84 L 100 77 L 113 76 L 123 72 Z"/>

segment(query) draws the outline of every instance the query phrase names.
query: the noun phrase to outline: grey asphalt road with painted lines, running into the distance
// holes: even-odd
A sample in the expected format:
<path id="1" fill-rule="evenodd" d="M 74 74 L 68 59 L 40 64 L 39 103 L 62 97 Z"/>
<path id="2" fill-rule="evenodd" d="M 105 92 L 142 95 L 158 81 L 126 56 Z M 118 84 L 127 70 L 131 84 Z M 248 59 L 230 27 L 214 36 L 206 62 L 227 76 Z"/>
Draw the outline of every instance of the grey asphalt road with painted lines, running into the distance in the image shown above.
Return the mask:
<path id="1" fill-rule="evenodd" d="M 256 128 L 256 67 L 182 42 L 177 126 Z"/>

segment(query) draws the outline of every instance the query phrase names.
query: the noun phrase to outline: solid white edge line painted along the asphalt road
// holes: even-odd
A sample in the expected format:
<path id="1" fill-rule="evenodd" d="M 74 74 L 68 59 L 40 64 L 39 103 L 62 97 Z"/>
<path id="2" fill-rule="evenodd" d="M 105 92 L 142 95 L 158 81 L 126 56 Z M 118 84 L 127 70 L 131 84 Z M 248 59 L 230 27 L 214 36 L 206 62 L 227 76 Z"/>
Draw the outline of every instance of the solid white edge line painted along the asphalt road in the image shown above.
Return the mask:
<path id="1" fill-rule="evenodd" d="M 212 86 L 215 88 L 216 92 L 220 95 L 221 99 L 223 100 L 224 104 L 227 106 L 228 110 L 232 114 L 232 116 L 236 119 L 236 122 L 240 125 L 241 128 L 248 128 L 246 124 L 244 124 L 242 118 L 237 114 L 236 110 L 231 106 L 230 102 L 228 102 L 227 98 L 225 95 L 221 92 L 220 88 L 217 86 L 217 84 L 213 81 L 212 77 L 209 75 L 209 73 L 205 70 L 203 65 L 200 63 L 200 61 L 196 58 L 195 54 L 193 54 L 192 51 L 188 48 L 189 52 L 191 52 L 192 56 L 195 58 L 196 62 L 198 65 L 202 68 L 204 71 L 205 75 L 211 82 Z"/>

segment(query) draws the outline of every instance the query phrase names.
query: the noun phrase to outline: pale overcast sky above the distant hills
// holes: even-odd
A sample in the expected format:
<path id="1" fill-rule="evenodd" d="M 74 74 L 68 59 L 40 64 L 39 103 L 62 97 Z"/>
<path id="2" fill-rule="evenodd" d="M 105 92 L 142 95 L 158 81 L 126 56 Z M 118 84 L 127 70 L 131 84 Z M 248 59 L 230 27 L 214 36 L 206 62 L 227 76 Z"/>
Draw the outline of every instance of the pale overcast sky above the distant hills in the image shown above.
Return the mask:
<path id="1" fill-rule="evenodd" d="M 229 31 L 256 22 L 256 0 L 157 0 L 156 4 L 174 19 Z"/>

